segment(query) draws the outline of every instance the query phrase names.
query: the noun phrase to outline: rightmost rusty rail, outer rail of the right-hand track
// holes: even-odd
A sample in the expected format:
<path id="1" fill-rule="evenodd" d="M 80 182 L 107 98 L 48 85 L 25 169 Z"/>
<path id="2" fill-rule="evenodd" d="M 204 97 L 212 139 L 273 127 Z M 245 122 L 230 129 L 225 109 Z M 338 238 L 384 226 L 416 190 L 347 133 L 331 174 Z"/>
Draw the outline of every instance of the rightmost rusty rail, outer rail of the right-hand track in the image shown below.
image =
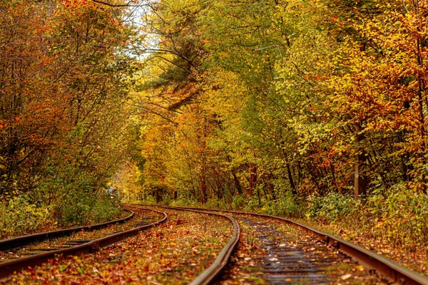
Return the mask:
<path id="1" fill-rule="evenodd" d="M 163 206 L 160 206 L 163 207 Z M 312 236 L 316 236 L 318 239 L 326 242 L 327 244 L 332 244 L 332 246 L 339 249 L 341 252 L 346 254 L 349 257 L 352 257 L 353 260 L 359 262 L 361 265 L 365 266 L 367 269 L 373 269 L 377 271 L 380 275 L 387 278 L 394 284 L 402 284 L 402 285 L 428 285 L 428 279 L 417 272 L 411 271 L 404 266 L 397 264 L 395 261 L 391 259 L 387 259 L 386 257 L 382 257 L 381 255 L 367 250 L 363 247 L 360 247 L 357 244 L 353 244 L 352 242 L 347 242 L 344 239 L 340 239 L 339 237 L 335 237 L 332 234 L 327 234 L 325 232 L 321 232 L 317 229 L 309 227 L 305 224 L 301 224 L 300 222 L 295 222 L 292 219 L 285 219 L 282 217 L 276 217 L 269 214 L 257 214 L 253 212 L 237 212 L 237 211 L 225 211 L 219 209 L 203 209 L 203 208 L 193 208 L 193 207 L 180 207 L 181 209 L 198 209 L 212 212 L 227 212 L 233 214 L 247 214 L 253 217 L 264 217 L 268 219 L 276 219 L 280 222 L 285 222 L 287 224 L 291 224 L 295 227 L 299 227 L 303 229 L 307 234 Z"/>

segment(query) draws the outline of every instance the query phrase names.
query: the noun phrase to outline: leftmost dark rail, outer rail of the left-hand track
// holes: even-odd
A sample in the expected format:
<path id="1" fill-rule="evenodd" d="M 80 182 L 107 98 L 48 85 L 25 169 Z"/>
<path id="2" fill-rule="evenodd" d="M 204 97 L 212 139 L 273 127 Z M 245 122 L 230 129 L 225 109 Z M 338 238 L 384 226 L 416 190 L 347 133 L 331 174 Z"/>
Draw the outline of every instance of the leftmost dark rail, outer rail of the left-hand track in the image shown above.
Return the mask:
<path id="1" fill-rule="evenodd" d="M 72 227 L 69 229 L 58 229 L 52 232 L 40 232 L 37 234 L 29 234 L 26 236 L 14 237 L 12 239 L 3 239 L 0 241 L 0 251 L 6 252 L 7 250 L 16 249 L 19 247 L 25 247 L 26 245 L 33 244 L 34 242 L 42 242 L 46 239 L 54 239 L 56 237 L 65 237 L 75 232 L 80 232 L 81 230 L 93 231 L 95 229 L 102 229 L 103 227 L 107 227 L 110 224 L 123 223 L 128 221 L 128 219 L 131 219 L 134 215 L 134 212 L 132 212 L 131 210 L 129 209 L 125 209 L 125 210 L 130 212 L 131 214 L 129 214 L 127 217 L 124 217 L 122 219 L 115 219 L 113 221 L 105 222 L 102 224 L 92 224 L 84 227 Z"/>

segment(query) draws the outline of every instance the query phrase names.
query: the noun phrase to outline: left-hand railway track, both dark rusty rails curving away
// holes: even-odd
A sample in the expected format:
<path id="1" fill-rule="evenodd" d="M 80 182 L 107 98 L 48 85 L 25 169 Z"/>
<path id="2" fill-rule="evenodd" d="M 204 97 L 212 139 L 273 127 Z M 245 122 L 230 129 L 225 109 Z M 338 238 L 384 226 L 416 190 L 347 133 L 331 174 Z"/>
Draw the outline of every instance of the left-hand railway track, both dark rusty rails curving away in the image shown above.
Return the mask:
<path id="1" fill-rule="evenodd" d="M 97 239 L 68 239 L 66 241 L 60 242 L 60 244 L 55 247 L 30 247 L 30 249 L 28 249 L 31 244 L 37 242 L 40 243 L 46 241 L 47 239 L 66 237 L 82 230 L 94 231 L 97 229 L 103 229 L 105 227 L 108 227 L 111 224 L 127 222 L 129 219 L 135 216 L 135 212 L 128 209 L 127 211 L 130 212 L 130 214 L 127 217 L 123 219 L 116 219 L 114 221 L 106 222 L 103 224 L 94 224 L 87 227 L 75 227 L 71 229 L 61 229 L 54 232 L 43 232 L 39 234 L 31 234 L 24 237 L 16 237 L 14 239 L 5 239 L 3 241 L 0 241 L 0 252 L 6 252 L 6 258 L 8 258 L 6 261 L 0 262 L 0 282 L 8 281 L 15 271 L 20 271 L 21 269 L 25 269 L 28 266 L 36 266 L 42 264 L 49 259 L 53 259 L 55 255 L 62 254 L 63 256 L 69 256 L 96 252 L 100 248 L 107 247 L 108 245 L 114 244 L 116 242 L 120 242 L 121 240 L 126 239 L 128 237 L 133 237 L 145 229 L 149 229 L 157 224 L 161 224 L 167 219 L 167 214 L 165 214 L 165 212 L 161 212 L 156 209 L 146 209 L 137 206 L 134 206 L 133 209 L 150 210 L 161 214 L 163 217 L 153 222 L 148 222 L 146 220 L 138 221 L 135 224 L 135 227 L 133 227 L 133 229 L 127 229 L 113 234 L 110 233 L 105 237 Z M 10 258 L 7 255 L 8 252 L 11 252 L 11 254 L 14 255 L 22 253 L 19 255 L 24 255 L 24 257 Z"/>

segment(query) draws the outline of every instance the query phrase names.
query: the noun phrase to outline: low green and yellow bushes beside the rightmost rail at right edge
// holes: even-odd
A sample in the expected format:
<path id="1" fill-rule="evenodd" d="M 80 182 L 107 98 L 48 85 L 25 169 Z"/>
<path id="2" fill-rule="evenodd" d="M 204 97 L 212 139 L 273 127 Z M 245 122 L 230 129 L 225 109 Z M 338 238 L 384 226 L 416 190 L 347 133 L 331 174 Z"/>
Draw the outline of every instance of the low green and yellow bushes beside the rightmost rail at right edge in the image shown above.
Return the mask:
<path id="1" fill-rule="evenodd" d="M 364 201 L 330 193 L 310 197 L 306 216 L 321 224 L 334 224 L 347 236 L 373 239 L 382 247 L 407 252 L 428 247 L 428 195 L 411 192 L 404 184 L 385 192 L 376 190 Z"/>

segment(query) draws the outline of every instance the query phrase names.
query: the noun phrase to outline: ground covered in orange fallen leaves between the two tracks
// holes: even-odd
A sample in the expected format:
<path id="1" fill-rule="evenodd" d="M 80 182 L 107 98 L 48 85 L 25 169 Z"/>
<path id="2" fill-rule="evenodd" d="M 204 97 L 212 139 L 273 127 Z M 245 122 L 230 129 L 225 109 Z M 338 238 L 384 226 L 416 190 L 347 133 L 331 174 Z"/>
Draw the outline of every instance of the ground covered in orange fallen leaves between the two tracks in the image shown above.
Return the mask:
<path id="1" fill-rule="evenodd" d="M 167 222 L 85 257 L 58 257 L 14 275 L 10 284 L 181 284 L 228 243 L 227 219 L 165 210 Z"/>

